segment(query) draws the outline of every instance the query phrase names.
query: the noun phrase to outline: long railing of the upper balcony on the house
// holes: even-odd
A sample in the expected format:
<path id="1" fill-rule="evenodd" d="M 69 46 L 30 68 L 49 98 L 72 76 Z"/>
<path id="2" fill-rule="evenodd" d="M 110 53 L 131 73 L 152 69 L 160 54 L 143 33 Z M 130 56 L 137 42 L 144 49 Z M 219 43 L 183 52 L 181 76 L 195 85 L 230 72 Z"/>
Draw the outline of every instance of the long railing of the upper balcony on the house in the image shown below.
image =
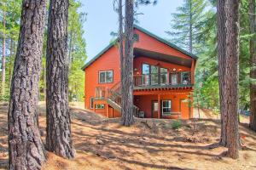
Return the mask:
<path id="1" fill-rule="evenodd" d="M 169 74 L 148 74 L 148 75 L 135 75 L 135 87 L 148 87 L 148 86 L 186 86 L 191 85 L 190 72 L 178 72 Z"/>

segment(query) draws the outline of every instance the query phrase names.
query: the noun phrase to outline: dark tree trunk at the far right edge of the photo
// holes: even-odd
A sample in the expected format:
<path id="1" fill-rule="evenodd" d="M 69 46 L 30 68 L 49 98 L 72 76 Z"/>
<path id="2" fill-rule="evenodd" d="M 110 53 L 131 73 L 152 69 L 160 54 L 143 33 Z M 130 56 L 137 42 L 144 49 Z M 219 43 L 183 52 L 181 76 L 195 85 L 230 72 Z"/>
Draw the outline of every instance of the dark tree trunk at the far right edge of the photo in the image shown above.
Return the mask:
<path id="1" fill-rule="evenodd" d="M 255 0 L 249 0 L 249 14 L 250 14 L 250 33 L 256 33 L 255 26 Z M 250 127 L 256 131 L 256 36 L 253 35 L 250 39 Z"/>

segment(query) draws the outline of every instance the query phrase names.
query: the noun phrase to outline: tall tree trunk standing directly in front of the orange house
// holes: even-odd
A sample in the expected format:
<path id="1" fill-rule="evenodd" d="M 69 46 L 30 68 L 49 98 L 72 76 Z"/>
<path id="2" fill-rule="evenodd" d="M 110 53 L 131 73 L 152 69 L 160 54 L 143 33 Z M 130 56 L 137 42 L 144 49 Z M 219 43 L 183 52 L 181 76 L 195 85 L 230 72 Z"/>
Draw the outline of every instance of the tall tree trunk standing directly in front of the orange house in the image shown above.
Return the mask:
<path id="1" fill-rule="evenodd" d="M 133 118 L 133 0 L 125 0 L 125 56 L 122 81 L 121 124 L 131 126 Z"/>

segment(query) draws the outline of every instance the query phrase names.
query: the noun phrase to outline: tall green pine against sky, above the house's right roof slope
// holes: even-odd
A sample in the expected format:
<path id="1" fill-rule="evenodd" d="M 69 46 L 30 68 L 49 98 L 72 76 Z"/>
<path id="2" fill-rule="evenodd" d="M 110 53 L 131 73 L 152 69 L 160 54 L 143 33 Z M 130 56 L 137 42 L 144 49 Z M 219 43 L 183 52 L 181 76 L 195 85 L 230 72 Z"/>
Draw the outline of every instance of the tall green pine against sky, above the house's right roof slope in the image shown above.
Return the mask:
<path id="1" fill-rule="evenodd" d="M 179 47 L 189 50 L 190 53 L 201 48 L 206 39 L 202 30 L 207 24 L 205 0 L 183 0 L 183 6 L 177 8 L 177 13 L 172 14 L 172 30 L 166 31 L 171 37 L 171 42 Z"/>

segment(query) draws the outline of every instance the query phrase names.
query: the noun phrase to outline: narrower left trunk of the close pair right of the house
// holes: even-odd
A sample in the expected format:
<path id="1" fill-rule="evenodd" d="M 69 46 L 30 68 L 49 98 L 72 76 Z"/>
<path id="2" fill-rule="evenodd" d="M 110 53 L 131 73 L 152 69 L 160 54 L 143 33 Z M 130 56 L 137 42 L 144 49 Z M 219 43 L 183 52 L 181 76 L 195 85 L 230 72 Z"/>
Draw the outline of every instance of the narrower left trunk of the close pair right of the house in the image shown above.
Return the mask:
<path id="1" fill-rule="evenodd" d="M 218 0 L 217 23 L 218 23 L 218 87 L 221 115 L 221 135 L 219 144 L 227 146 L 227 100 L 225 98 L 225 70 L 226 70 L 226 27 L 225 27 L 225 5 L 226 0 Z"/>

